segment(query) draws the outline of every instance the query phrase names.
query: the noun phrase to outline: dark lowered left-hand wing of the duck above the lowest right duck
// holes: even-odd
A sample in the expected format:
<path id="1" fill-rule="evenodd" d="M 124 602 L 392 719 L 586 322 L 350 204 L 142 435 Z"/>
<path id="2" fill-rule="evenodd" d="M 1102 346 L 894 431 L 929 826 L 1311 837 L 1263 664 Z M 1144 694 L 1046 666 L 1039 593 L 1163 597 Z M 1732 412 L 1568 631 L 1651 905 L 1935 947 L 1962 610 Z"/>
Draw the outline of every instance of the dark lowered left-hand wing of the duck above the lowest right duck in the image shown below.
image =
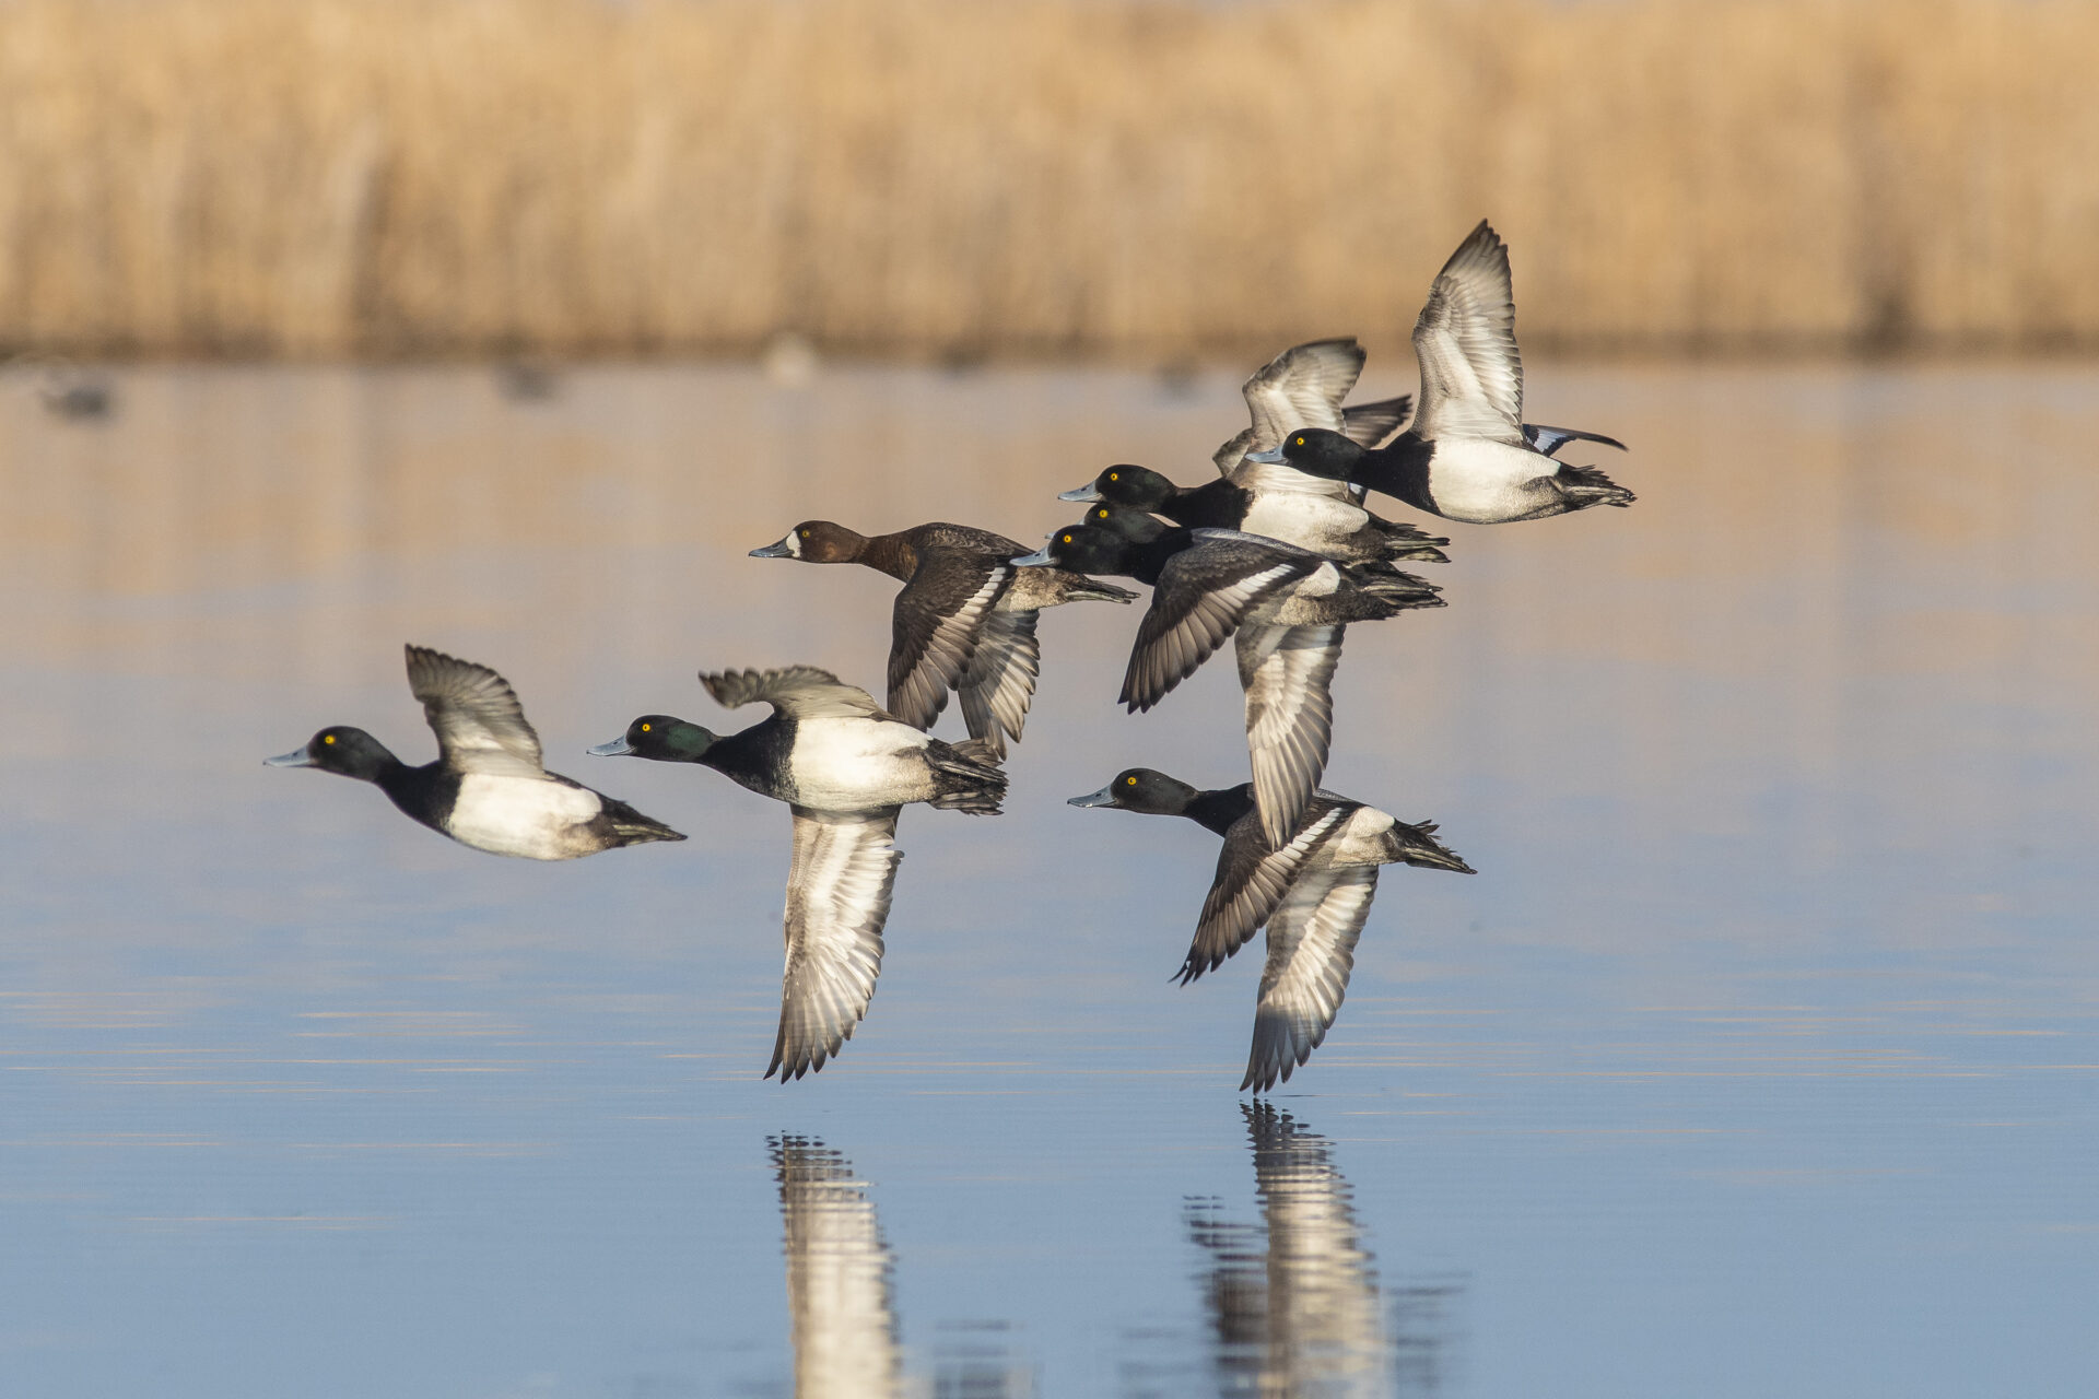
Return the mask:
<path id="1" fill-rule="evenodd" d="M 1196 531 L 1253 539 L 1234 531 Z M 1232 636 L 1245 615 L 1320 566 L 1316 554 L 1268 547 L 1190 547 L 1167 560 L 1152 589 L 1152 606 L 1138 623 L 1138 644 L 1129 650 L 1121 703 L 1131 711 L 1150 709 L 1209 659 Z"/>

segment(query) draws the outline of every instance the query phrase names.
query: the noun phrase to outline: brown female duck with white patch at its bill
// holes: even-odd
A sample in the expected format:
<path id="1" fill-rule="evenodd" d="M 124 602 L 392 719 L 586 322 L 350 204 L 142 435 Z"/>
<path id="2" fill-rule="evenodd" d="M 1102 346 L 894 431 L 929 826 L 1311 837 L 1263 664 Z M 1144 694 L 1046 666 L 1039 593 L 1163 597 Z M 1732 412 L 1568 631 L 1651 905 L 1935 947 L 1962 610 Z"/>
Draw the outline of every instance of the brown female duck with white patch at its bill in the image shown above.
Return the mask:
<path id="1" fill-rule="evenodd" d="M 802 520 L 751 558 L 804 564 L 867 564 L 900 579 L 890 617 L 888 709 L 905 724 L 932 728 L 947 692 L 961 696 L 972 738 L 1005 755 L 1041 673 L 1035 623 L 1060 602 L 1136 602 L 1136 594 L 1062 568 L 1016 571 L 1026 545 L 968 524 L 917 524 L 892 535 L 858 535 L 831 520 Z"/>

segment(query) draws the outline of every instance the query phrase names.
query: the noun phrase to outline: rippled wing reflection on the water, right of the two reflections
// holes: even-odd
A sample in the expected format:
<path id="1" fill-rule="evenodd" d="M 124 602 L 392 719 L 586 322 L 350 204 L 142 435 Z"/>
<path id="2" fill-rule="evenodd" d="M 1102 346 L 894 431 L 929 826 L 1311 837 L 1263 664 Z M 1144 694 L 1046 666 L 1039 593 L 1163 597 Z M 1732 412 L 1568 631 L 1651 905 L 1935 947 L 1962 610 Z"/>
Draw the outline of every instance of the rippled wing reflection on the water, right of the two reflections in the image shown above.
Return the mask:
<path id="1" fill-rule="evenodd" d="M 1394 1338 L 1354 1193 L 1329 1143 L 1268 1103 L 1241 1107 L 1253 1143 L 1261 1223 L 1192 1202 L 1220 1391 L 1234 1395 L 1392 1395 Z"/>

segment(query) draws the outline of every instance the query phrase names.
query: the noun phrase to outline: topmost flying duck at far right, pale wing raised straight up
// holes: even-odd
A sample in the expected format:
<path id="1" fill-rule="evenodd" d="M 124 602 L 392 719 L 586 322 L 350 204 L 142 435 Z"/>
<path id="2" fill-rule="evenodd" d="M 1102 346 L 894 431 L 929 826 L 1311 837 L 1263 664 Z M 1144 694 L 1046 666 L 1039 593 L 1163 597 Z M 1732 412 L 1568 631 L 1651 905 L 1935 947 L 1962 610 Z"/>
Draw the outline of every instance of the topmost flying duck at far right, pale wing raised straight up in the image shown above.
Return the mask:
<path id="1" fill-rule="evenodd" d="M 1593 466 L 1553 459 L 1570 440 L 1618 451 L 1625 443 L 1524 422 L 1509 250 L 1484 218 L 1436 275 L 1415 321 L 1415 357 L 1421 409 L 1390 447 L 1366 449 L 1329 424 L 1306 422 L 1247 459 L 1348 480 L 1471 524 L 1633 503 L 1631 491 Z"/>

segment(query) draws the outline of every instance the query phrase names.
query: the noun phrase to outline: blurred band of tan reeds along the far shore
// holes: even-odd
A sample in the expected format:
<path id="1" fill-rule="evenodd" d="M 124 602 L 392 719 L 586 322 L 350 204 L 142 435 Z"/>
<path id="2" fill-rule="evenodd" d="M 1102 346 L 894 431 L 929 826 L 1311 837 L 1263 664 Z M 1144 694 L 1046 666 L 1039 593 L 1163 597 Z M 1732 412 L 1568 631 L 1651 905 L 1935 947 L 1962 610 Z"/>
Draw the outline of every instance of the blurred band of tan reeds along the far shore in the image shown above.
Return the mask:
<path id="1" fill-rule="evenodd" d="M 2063 0 L 0 0 L 0 348 L 2099 344 Z"/>

